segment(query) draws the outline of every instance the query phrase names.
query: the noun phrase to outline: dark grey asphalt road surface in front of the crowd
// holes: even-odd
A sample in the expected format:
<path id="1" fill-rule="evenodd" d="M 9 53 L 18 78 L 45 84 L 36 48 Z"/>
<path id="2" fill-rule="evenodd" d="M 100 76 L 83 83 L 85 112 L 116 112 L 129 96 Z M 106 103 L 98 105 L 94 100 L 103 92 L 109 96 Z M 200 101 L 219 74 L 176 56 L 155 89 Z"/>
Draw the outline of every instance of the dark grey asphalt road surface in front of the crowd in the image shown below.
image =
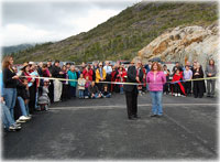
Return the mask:
<path id="1" fill-rule="evenodd" d="M 217 99 L 164 96 L 164 117 L 151 118 L 146 94 L 139 97 L 141 119 L 131 121 L 124 98 L 54 104 L 4 134 L 3 159 L 217 160 Z"/>

